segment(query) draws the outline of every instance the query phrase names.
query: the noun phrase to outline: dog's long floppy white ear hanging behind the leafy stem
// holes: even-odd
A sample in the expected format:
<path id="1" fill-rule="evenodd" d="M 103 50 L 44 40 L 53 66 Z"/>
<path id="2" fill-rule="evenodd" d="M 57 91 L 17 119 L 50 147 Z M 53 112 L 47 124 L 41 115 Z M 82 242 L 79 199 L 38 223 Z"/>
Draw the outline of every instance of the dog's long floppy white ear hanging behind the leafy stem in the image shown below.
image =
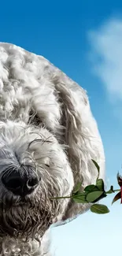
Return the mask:
<path id="1" fill-rule="evenodd" d="M 60 77 L 60 78 L 59 78 Z M 94 184 L 98 171 L 91 159 L 100 166 L 100 177 L 104 180 L 105 158 L 98 126 L 91 114 L 87 93 L 64 74 L 54 78 L 54 84 L 62 103 L 61 124 L 64 140 L 68 145 L 68 160 L 72 167 L 75 185 L 82 182 L 81 191 L 88 184 Z M 71 200 L 63 220 L 75 217 L 89 209 L 88 204 Z"/>

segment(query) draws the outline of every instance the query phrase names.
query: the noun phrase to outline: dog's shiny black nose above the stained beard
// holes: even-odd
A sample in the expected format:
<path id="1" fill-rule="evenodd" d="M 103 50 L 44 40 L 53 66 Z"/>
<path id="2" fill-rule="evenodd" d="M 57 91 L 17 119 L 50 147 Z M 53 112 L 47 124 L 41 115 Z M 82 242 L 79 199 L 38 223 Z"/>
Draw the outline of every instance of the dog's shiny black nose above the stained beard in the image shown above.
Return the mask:
<path id="1" fill-rule="evenodd" d="M 25 196 L 31 194 L 39 184 L 39 179 L 31 166 L 22 165 L 20 169 L 6 169 L 2 175 L 2 183 L 14 195 Z"/>

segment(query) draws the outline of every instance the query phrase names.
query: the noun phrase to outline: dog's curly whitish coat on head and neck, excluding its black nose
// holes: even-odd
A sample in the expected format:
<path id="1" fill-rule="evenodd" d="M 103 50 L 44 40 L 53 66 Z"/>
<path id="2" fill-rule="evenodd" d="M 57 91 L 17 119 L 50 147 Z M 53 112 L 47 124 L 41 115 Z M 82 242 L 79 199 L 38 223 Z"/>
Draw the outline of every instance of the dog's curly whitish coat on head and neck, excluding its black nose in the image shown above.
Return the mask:
<path id="1" fill-rule="evenodd" d="M 50 255 L 50 225 L 89 209 L 66 196 L 104 179 L 102 139 L 86 91 L 46 58 L 0 43 L 0 255 Z M 41 178 L 21 200 L 2 184 L 10 166 Z"/>

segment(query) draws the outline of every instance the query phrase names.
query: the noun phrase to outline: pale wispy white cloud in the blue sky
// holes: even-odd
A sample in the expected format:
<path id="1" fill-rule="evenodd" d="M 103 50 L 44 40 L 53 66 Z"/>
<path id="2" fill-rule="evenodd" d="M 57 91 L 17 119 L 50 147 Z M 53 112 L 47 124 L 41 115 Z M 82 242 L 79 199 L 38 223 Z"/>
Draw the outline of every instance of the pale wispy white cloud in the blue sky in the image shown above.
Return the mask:
<path id="1" fill-rule="evenodd" d="M 122 100 L 122 20 L 111 19 L 95 31 L 88 32 L 91 61 L 114 100 Z"/>

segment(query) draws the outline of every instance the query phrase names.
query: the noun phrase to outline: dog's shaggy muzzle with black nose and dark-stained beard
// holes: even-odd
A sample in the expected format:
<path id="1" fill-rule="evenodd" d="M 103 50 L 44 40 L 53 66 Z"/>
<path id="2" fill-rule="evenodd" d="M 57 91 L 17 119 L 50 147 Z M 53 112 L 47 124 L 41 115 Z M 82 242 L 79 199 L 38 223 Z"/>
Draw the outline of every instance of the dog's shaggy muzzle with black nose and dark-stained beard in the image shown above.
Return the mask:
<path id="1" fill-rule="evenodd" d="M 65 148 L 46 128 L 0 123 L 0 236 L 43 235 L 74 185 Z"/>

